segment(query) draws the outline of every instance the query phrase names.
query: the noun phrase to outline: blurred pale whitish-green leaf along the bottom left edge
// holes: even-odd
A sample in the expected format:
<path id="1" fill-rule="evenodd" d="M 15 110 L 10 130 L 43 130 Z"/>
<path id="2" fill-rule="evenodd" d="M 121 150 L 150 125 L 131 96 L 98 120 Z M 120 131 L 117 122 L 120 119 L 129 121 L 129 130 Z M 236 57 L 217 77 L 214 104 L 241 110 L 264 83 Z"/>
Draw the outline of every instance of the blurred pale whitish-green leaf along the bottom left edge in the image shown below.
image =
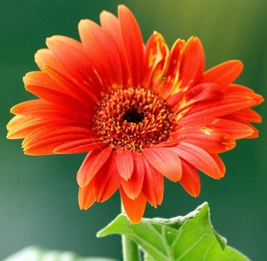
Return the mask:
<path id="1" fill-rule="evenodd" d="M 73 252 L 43 250 L 27 247 L 3 261 L 115 261 L 105 257 L 78 257 Z"/>

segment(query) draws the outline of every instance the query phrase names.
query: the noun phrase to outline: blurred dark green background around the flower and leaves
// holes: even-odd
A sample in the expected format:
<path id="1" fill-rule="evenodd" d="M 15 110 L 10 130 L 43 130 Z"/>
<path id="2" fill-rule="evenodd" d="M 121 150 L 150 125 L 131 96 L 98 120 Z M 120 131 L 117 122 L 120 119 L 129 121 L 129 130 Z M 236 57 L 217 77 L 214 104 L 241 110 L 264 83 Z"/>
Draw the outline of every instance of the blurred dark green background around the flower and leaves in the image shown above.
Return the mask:
<path id="1" fill-rule="evenodd" d="M 21 140 L 6 140 L 9 108 L 31 99 L 22 77 L 37 69 L 34 53 L 46 37 L 62 34 L 78 39 L 80 19 L 99 21 L 103 9 L 117 14 L 126 4 L 140 24 L 144 40 L 159 31 L 171 46 L 177 38 L 199 36 L 206 68 L 229 59 L 244 62 L 238 83 L 266 96 L 267 53 L 265 0 L 1 0 L 0 1 L 0 260 L 28 245 L 73 250 L 79 255 L 103 255 L 121 260 L 120 237 L 97 239 L 95 233 L 120 212 L 118 194 L 107 203 L 82 212 L 78 208 L 75 174 L 85 155 L 30 157 Z M 266 103 L 260 138 L 241 140 L 222 155 L 226 177 L 201 175 L 201 195 L 191 198 L 179 184 L 166 181 L 164 203 L 147 207 L 145 216 L 184 215 L 208 201 L 211 221 L 229 245 L 251 260 L 267 256 Z"/>

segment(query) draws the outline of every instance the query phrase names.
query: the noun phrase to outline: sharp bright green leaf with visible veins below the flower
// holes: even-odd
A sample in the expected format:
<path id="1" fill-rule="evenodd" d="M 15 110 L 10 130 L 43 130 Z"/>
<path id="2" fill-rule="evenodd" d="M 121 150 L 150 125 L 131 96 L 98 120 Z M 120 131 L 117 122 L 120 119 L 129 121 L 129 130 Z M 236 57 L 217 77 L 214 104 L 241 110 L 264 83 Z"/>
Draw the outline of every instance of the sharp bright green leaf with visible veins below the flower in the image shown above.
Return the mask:
<path id="1" fill-rule="evenodd" d="M 126 215 L 118 215 L 98 237 L 122 234 L 134 240 L 145 252 L 145 261 L 247 261 L 234 248 L 226 245 L 211 225 L 209 205 L 204 203 L 188 215 L 169 220 L 143 218 L 132 225 Z"/>

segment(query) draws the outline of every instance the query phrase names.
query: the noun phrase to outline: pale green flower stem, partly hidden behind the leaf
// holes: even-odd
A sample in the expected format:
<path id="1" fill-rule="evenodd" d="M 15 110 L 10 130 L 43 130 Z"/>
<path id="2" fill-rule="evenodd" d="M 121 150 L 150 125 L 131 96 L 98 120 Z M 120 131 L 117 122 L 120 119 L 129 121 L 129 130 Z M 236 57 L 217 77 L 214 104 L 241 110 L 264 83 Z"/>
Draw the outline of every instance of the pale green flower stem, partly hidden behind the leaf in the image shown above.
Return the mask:
<path id="1" fill-rule="evenodd" d="M 123 205 L 122 213 L 125 213 Z M 122 256 L 123 261 L 140 261 L 140 251 L 137 244 L 125 235 L 122 235 Z"/>

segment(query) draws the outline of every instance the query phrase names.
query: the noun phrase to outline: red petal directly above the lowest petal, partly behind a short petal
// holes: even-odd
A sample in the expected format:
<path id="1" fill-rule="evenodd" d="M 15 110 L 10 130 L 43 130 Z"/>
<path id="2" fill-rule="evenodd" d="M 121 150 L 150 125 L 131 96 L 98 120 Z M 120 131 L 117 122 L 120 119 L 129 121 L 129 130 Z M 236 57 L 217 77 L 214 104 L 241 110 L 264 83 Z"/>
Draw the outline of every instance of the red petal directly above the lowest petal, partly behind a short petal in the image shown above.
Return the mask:
<path id="1" fill-rule="evenodd" d="M 121 178 L 122 188 L 125 191 L 127 197 L 134 200 L 140 195 L 142 191 L 142 185 L 144 182 L 145 168 L 144 159 L 140 153 L 132 153 L 132 159 L 134 163 L 134 170 L 129 180 Z"/>

